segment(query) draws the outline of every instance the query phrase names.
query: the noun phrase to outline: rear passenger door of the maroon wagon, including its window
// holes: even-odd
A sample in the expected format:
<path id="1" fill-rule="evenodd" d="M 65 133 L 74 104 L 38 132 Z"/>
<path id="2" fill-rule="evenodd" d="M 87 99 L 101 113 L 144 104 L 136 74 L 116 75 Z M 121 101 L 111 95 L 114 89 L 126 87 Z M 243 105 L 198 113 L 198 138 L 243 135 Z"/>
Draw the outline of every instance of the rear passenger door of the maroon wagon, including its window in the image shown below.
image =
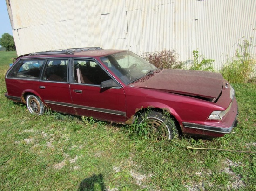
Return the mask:
<path id="1" fill-rule="evenodd" d="M 68 82 L 69 59 L 47 59 L 38 85 L 43 101 L 54 111 L 75 114 Z"/>

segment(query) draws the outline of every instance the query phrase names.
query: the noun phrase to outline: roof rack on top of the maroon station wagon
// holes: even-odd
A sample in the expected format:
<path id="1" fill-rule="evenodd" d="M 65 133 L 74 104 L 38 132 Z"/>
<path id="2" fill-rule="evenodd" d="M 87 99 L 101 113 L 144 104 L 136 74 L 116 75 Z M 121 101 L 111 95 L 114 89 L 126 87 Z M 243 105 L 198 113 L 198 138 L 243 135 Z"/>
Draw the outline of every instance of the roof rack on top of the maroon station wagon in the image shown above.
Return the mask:
<path id="1" fill-rule="evenodd" d="M 42 51 L 42 52 L 34 52 L 29 54 L 28 56 L 34 55 L 48 55 L 48 54 L 74 54 L 75 51 L 89 51 L 89 50 L 101 50 L 100 47 L 87 47 L 87 48 L 70 48 L 63 50 L 53 50 L 53 51 Z"/>

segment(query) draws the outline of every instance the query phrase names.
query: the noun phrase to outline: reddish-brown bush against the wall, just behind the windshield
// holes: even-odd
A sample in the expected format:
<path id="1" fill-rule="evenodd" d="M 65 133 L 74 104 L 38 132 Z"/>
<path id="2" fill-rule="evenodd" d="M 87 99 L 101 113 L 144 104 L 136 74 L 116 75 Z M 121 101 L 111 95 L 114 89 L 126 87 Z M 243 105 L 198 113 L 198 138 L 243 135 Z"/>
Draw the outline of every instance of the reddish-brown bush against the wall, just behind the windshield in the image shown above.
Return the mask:
<path id="1" fill-rule="evenodd" d="M 175 53 L 174 50 L 166 50 L 155 53 L 146 53 L 144 59 L 146 59 L 151 64 L 155 65 L 157 68 L 175 68 L 182 69 L 184 63 L 178 61 L 179 55 Z"/>

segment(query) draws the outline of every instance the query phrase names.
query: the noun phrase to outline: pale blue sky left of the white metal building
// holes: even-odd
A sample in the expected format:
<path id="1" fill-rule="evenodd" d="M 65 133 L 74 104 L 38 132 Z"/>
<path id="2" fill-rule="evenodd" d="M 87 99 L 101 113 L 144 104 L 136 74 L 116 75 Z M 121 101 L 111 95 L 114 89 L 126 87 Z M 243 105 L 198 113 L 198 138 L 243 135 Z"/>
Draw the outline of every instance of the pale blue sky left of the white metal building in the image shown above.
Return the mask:
<path id="1" fill-rule="evenodd" d="M 9 33 L 13 36 L 6 2 L 5 0 L 0 0 L 0 37 L 2 37 L 4 33 Z"/>

